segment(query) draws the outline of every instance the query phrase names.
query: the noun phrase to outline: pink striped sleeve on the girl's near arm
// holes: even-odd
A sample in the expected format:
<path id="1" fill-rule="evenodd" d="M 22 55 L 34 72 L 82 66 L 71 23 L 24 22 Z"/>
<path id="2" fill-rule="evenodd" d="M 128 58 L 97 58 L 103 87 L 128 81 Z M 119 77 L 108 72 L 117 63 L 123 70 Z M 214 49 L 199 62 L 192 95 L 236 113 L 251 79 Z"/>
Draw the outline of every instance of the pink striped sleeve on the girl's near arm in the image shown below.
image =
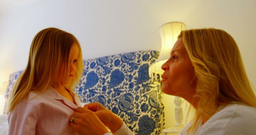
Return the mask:
<path id="1" fill-rule="evenodd" d="M 35 135 L 38 109 L 31 103 L 18 103 L 8 115 L 9 135 Z"/>

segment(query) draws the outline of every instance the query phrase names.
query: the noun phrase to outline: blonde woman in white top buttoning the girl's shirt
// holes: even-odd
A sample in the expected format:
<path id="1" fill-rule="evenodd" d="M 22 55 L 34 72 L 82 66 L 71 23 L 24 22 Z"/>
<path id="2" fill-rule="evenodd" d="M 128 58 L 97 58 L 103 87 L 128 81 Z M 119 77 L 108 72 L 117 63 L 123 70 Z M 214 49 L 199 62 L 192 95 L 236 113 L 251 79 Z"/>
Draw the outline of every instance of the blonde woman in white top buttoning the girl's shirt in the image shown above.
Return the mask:
<path id="1" fill-rule="evenodd" d="M 195 111 L 180 135 L 255 135 L 256 97 L 228 33 L 213 28 L 182 31 L 162 69 L 162 91 L 184 98 Z M 83 135 L 133 134 L 99 103 L 78 107 L 74 118 L 70 125 Z M 100 121 L 112 133 L 95 124 Z"/>

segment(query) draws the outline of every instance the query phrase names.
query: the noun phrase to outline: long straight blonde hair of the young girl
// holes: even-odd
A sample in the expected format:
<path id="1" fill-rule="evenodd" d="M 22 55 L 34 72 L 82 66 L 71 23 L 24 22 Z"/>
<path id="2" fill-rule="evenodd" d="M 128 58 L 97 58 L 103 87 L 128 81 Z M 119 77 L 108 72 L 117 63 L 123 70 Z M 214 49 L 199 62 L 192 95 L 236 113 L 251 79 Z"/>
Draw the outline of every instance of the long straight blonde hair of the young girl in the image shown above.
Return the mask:
<path id="1" fill-rule="evenodd" d="M 83 74 L 82 51 L 74 35 L 58 28 L 46 28 L 34 37 L 30 46 L 28 65 L 18 77 L 12 90 L 8 112 L 24 98 L 29 91 L 44 91 L 54 81 L 60 81 L 60 67 L 65 67 L 64 78 L 68 79 L 70 48 L 76 44 L 79 49 L 76 74 L 72 83 L 65 85 L 74 93 L 73 87 Z M 68 82 L 68 80 L 64 80 Z"/>

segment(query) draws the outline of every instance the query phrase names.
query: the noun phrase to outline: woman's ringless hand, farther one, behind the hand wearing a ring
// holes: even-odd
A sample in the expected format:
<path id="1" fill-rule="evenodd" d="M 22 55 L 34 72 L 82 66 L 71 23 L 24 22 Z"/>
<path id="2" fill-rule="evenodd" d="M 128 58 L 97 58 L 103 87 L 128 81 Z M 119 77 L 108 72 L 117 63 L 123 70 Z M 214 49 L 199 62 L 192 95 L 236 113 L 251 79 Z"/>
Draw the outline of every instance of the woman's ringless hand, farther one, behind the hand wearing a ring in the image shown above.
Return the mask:
<path id="1" fill-rule="evenodd" d="M 84 105 L 84 108 L 90 109 L 95 115 L 108 127 L 112 133 L 115 133 L 123 124 L 116 114 L 112 113 L 109 109 L 106 109 L 100 103 L 89 103 Z"/>

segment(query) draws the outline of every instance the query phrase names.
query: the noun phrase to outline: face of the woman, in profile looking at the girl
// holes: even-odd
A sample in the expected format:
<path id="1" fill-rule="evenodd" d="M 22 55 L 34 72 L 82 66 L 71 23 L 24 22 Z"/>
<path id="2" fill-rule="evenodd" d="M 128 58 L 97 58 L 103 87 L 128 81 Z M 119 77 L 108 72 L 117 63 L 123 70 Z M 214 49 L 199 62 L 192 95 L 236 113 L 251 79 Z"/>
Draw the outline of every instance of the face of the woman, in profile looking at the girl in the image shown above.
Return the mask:
<path id="1" fill-rule="evenodd" d="M 179 38 L 170 52 L 170 58 L 162 67 L 162 91 L 168 95 L 186 97 L 194 95 L 196 77 L 182 38 Z"/>

